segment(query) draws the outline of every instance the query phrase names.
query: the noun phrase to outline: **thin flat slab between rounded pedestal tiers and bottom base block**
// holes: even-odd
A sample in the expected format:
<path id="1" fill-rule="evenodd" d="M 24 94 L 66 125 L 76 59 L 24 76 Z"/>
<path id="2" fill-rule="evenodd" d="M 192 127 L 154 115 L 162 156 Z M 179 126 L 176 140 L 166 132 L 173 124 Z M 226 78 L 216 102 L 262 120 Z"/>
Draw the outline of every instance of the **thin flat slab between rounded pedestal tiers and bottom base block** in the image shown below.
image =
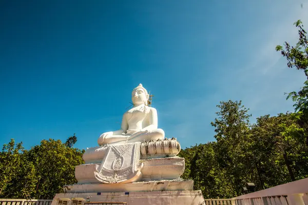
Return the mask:
<path id="1" fill-rule="evenodd" d="M 139 181 L 132 183 L 96 183 L 75 184 L 64 186 L 67 193 L 84 192 L 141 192 L 141 191 L 192 191 L 193 180 L 161 180 L 161 181 Z"/>

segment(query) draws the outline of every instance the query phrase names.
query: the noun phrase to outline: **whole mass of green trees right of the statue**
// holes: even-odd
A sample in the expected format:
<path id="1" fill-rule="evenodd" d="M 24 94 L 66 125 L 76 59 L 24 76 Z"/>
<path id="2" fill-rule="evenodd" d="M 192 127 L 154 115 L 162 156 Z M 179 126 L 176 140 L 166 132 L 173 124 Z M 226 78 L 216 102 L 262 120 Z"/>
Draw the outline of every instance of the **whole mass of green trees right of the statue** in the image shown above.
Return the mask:
<path id="1" fill-rule="evenodd" d="M 181 150 L 184 179 L 205 198 L 229 198 L 243 193 L 247 182 L 262 190 L 308 177 L 307 133 L 301 113 L 264 115 L 249 124 L 248 109 L 241 101 L 226 101 L 212 125 L 217 142 Z"/>

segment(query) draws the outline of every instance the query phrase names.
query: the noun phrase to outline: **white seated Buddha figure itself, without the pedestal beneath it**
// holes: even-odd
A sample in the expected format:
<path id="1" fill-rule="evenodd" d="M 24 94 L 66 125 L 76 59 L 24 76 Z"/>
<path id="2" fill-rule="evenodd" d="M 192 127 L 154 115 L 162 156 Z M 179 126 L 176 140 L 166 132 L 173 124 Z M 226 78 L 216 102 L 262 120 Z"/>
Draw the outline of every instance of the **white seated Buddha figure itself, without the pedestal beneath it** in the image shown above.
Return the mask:
<path id="1" fill-rule="evenodd" d="M 124 113 L 121 129 L 105 132 L 98 139 L 98 144 L 114 144 L 136 141 L 164 139 L 165 133 L 158 129 L 157 111 L 148 107 L 148 92 L 139 84 L 131 93 L 133 108 Z"/>

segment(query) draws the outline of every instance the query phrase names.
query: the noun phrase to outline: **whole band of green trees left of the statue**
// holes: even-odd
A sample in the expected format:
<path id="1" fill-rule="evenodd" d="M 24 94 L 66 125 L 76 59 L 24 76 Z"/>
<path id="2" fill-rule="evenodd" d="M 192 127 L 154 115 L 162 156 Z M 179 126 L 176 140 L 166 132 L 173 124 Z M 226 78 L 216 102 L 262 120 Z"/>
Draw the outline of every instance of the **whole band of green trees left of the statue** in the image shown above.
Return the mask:
<path id="1" fill-rule="evenodd" d="M 76 182 L 74 169 L 83 163 L 83 153 L 53 139 L 24 150 L 12 139 L 0 153 L 0 197 L 24 198 L 27 191 L 31 197 L 52 199 L 64 185 Z"/>

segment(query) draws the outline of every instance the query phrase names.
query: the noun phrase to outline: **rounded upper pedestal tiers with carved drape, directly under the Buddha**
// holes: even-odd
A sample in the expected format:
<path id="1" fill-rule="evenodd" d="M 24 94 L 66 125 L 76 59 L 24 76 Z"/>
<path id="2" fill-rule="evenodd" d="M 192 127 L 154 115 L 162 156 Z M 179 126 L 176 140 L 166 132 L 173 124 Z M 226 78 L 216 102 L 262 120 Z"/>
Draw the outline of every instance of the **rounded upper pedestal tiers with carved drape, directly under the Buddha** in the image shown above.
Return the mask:
<path id="1" fill-rule="evenodd" d="M 127 149 L 128 146 L 131 149 Z M 122 156 L 117 149 L 124 151 Z M 78 184 L 179 179 L 185 169 L 184 158 L 176 156 L 180 151 L 181 146 L 175 138 L 90 148 L 83 155 L 85 164 L 76 166 L 75 176 Z M 117 159 L 123 165 L 115 169 Z M 125 165 L 125 162 L 128 163 Z"/>

